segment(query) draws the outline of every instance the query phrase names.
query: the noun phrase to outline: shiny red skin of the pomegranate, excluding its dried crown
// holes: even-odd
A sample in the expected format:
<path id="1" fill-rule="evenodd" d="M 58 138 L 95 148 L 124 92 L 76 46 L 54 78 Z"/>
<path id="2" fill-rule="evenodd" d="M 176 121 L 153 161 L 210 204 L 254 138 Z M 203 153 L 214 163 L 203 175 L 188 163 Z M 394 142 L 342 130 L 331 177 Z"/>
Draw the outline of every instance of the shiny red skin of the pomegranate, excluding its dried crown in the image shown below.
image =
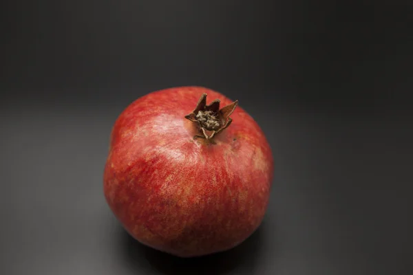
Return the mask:
<path id="1" fill-rule="evenodd" d="M 138 98 L 112 129 L 104 193 L 125 230 L 180 257 L 229 250 L 260 225 L 273 179 L 273 156 L 260 126 L 241 107 L 213 144 L 184 118 L 204 87 L 176 87 Z"/>

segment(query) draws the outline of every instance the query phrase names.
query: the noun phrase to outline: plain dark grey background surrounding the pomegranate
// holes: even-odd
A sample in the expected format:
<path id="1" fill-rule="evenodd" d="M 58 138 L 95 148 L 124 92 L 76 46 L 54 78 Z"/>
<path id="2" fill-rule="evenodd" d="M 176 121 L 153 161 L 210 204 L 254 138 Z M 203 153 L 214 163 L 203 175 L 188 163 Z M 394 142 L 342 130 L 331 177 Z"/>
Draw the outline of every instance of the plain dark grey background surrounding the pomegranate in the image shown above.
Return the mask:
<path id="1" fill-rule="evenodd" d="M 412 274 L 412 4 L 341 2 L 2 1 L 0 274 Z M 186 260 L 102 190 L 117 115 L 181 85 L 240 100 L 276 163 L 260 229 Z"/>

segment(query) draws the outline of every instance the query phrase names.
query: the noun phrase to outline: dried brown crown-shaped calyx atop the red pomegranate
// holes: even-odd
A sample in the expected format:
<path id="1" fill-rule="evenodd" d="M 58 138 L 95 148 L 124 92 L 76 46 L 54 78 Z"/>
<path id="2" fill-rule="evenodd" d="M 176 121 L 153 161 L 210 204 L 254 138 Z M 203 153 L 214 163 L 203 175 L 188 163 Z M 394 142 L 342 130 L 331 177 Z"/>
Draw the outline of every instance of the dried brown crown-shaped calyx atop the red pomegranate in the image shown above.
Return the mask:
<path id="1" fill-rule="evenodd" d="M 207 94 L 202 94 L 195 109 L 192 113 L 185 115 L 185 118 L 198 124 L 201 135 L 195 135 L 195 137 L 210 140 L 231 124 L 232 119 L 229 115 L 233 113 L 237 104 L 238 100 L 235 100 L 220 109 L 219 99 L 213 100 L 211 104 L 207 105 Z"/>

